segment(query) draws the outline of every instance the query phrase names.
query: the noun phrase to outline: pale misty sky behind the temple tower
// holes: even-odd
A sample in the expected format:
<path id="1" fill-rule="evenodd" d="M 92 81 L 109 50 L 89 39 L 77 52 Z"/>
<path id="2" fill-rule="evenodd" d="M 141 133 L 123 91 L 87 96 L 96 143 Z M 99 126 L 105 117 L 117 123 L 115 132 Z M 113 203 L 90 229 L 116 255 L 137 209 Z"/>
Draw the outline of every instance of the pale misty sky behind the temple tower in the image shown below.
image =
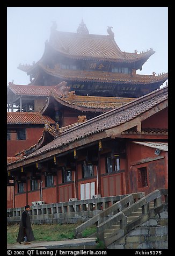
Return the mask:
<path id="1" fill-rule="evenodd" d="M 167 12 L 167 7 L 8 7 L 7 84 L 30 83 L 17 67 L 41 59 L 52 21 L 59 31 L 76 32 L 82 18 L 90 34 L 107 35 L 107 26 L 113 26 L 121 51 L 156 51 L 137 74 L 166 73 Z"/>

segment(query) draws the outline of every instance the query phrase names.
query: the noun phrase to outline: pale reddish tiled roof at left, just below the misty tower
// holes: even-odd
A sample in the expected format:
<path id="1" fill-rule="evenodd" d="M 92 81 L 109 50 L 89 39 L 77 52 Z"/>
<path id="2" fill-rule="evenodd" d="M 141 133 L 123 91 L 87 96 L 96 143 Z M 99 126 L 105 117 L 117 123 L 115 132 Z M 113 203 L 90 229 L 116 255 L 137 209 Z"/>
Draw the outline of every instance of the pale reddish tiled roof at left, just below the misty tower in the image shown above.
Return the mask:
<path id="1" fill-rule="evenodd" d="M 30 84 L 24 86 L 9 83 L 8 89 L 16 95 L 49 96 L 51 90 L 59 94 L 59 90 L 55 86 L 30 86 Z"/>

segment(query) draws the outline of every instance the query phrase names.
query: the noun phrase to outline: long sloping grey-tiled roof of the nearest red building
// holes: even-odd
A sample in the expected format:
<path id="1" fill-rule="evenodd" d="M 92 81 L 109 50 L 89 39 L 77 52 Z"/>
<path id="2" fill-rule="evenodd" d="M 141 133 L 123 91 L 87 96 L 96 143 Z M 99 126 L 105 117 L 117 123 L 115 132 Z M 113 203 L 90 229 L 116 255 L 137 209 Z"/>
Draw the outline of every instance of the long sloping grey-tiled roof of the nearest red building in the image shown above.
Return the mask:
<path id="1" fill-rule="evenodd" d="M 143 113 L 154 108 L 156 105 L 168 99 L 168 87 L 156 90 L 150 94 L 135 99 L 118 109 L 110 110 L 97 117 L 94 117 L 82 124 L 61 133 L 52 142 L 43 146 L 39 150 L 28 155 L 25 159 L 36 157 L 43 153 L 55 150 L 64 145 L 68 145 L 76 140 L 83 139 L 94 133 L 99 133 L 112 127 L 127 123 L 130 120 L 143 115 Z"/>

